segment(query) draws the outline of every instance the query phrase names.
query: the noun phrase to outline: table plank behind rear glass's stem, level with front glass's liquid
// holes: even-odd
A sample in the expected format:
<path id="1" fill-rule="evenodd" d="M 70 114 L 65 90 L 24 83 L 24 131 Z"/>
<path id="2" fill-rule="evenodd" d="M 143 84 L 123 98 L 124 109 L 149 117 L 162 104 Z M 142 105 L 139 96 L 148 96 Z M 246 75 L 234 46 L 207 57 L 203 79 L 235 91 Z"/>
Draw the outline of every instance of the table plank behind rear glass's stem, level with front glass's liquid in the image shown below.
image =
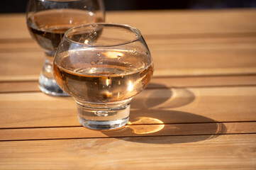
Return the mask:
<path id="1" fill-rule="evenodd" d="M 158 47 L 151 50 L 155 77 L 256 73 L 256 48 L 169 50 Z M 1 52 L 0 81 L 38 79 L 43 56 L 43 52 Z"/>

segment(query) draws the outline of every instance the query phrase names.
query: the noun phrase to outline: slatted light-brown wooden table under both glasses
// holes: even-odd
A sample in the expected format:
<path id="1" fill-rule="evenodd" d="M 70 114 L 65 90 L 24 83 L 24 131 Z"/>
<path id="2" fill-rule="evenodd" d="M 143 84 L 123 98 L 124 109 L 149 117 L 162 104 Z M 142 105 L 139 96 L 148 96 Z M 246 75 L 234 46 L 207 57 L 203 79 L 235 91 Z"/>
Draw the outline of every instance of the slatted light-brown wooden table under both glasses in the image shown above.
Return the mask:
<path id="1" fill-rule="evenodd" d="M 118 11 L 155 74 L 121 130 L 82 128 L 72 98 L 38 89 L 24 14 L 0 16 L 0 169 L 256 169 L 256 11 Z"/>

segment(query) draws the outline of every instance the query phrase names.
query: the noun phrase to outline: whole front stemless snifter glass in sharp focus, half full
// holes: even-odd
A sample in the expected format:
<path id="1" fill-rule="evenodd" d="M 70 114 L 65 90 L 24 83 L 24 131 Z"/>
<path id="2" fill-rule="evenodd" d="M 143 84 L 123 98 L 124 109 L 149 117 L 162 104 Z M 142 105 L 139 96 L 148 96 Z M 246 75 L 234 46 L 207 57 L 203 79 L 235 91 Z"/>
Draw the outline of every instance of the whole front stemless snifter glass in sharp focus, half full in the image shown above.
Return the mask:
<path id="1" fill-rule="evenodd" d="M 53 63 L 60 88 L 77 102 L 86 128 L 120 128 L 130 101 L 148 85 L 153 64 L 140 31 L 116 23 L 90 23 L 67 30 Z"/>

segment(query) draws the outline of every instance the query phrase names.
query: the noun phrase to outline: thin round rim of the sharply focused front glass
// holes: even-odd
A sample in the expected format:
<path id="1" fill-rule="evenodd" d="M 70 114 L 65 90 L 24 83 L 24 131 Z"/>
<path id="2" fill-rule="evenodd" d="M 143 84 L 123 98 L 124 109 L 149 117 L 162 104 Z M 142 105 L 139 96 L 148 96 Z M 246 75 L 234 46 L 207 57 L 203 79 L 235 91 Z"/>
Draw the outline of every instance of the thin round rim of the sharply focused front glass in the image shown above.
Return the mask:
<path id="1" fill-rule="evenodd" d="M 70 40 L 70 38 L 67 38 L 67 34 L 70 33 L 72 30 L 82 28 L 82 27 L 87 27 L 87 26 L 93 26 L 93 25 L 116 26 L 116 27 L 128 28 L 136 35 L 136 37 L 133 38 L 132 40 L 124 41 L 124 42 L 113 44 L 113 45 L 89 45 L 89 44 L 85 44 L 85 43 L 82 43 L 82 42 L 77 42 L 77 41 L 74 41 L 74 40 Z M 84 46 L 87 46 L 87 47 L 114 47 L 114 46 L 118 46 L 118 45 L 126 45 L 126 44 L 130 44 L 131 42 L 135 42 L 141 36 L 142 35 L 141 35 L 140 30 L 138 28 L 135 28 L 133 26 L 129 26 L 127 24 L 122 24 L 122 23 L 87 23 L 87 24 L 83 24 L 83 25 L 74 26 L 72 28 L 69 28 L 65 32 L 63 38 L 65 38 L 65 40 L 67 40 L 69 42 L 76 43 L 76 44 L 79 44 L 79 45 L 84 45 Z"/>

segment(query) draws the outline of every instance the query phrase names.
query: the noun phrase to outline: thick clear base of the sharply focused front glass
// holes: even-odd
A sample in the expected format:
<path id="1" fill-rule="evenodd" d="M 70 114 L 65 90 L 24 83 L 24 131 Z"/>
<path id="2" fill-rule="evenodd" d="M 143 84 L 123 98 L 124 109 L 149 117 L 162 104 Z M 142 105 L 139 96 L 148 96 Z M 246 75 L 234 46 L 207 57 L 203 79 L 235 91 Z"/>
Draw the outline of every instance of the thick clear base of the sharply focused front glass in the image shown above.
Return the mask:
<path id="1" fill-rule="evenodd" d="M 92 108 L 91 106 L 94 106 Z M 112 130 L 126 125 L 130 115 L 130 101 L 121 105 L 106 104 L 97 106 L 77 103 L 78 120 L 85 128 L 94 130 Z"/>

